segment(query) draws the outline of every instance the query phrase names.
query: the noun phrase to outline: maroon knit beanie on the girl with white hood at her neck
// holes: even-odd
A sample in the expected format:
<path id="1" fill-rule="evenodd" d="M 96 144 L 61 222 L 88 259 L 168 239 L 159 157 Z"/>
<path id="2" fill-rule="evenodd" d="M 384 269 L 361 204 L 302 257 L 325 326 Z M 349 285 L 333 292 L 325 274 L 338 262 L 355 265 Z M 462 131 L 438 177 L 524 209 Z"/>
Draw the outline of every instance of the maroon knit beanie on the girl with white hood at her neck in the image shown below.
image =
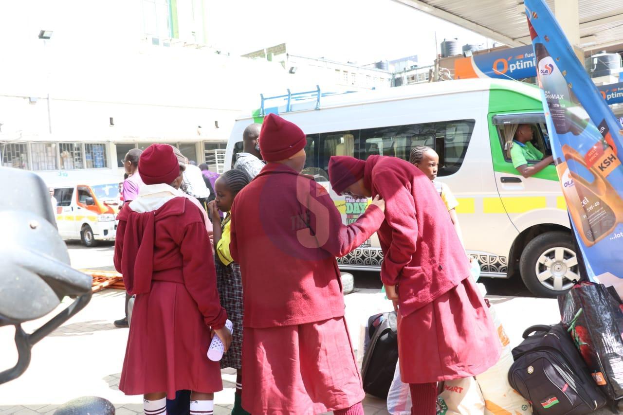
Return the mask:
<path id="1" fill-rule="evenodd" d="M 138 174 L 145 184 L 171 184 L 179 176 L 178 158 L 168 144 L 152 144 L 138 159 Z"/>

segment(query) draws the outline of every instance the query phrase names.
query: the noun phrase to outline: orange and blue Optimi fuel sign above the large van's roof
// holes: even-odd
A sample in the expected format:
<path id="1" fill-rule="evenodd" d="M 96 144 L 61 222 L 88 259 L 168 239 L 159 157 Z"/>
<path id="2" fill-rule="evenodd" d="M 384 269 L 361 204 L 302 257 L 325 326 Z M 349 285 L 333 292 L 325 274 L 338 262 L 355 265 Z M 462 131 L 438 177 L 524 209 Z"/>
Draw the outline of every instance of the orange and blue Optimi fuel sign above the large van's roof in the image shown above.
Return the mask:
<path id="1" fill-rule="evenodd" d="M 536 77 L 535 52 L 526 45 L 460 58 L 454 61 L 454 74 L 456 79 Z"/>

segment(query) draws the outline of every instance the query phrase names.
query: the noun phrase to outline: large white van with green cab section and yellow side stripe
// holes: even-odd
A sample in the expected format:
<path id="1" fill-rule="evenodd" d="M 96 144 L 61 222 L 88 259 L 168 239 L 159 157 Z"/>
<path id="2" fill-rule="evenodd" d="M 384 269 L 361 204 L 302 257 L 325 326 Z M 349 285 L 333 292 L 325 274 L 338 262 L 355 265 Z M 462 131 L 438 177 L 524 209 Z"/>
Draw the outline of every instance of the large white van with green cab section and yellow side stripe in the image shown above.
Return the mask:
<path id="1" fill-rule="evenodd" d="M 548 296 L 579 279 L 554 165 L 526 179 L 503 151 L 505 125 L 530 123 L 533 144 L 551 154 L 538 88 L 470 79 L 326 97 L 318 88 L 311 102 L 293 95 L 286 98 L 285 107 L 266 108 L 270 98 L 265 98 L 254 115 L 237 120 L 227 145 L 227 166 L 242 149 L 244 128 L 261 122 L 268 112 L 279 113 L 305 131 L 303 173 L 312 174 L 327 189 L 331 156 L 365 160 L 378 154 L 409 160 L 412 148 L 427 145 L 439 153 L 437 180 L 447 183 L 460 203 L 457 213 L 465 247 L 482 265 L 483 277 L 519 274 L 531 292 Z M 345 224 L 355 221 L 369 203 L 330 194 Z M 378 270 L 381 260 L 375 235 L 338 263 L 341 269 Z"/>

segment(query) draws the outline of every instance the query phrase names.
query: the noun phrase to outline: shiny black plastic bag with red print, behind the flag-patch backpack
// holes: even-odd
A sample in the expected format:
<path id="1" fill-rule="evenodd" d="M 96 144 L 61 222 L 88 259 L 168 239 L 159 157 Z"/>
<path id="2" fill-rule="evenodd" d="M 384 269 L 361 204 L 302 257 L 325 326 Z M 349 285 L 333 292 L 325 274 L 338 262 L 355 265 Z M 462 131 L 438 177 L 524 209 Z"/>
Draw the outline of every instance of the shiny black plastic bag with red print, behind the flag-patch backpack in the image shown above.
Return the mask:
<path id="1" fill-rule="evenodd" d="M 623 311 L 603 284 L 583 282 L 558 296 L 562 322 L 592 378 L 611 399 L 623 398 Z"/>

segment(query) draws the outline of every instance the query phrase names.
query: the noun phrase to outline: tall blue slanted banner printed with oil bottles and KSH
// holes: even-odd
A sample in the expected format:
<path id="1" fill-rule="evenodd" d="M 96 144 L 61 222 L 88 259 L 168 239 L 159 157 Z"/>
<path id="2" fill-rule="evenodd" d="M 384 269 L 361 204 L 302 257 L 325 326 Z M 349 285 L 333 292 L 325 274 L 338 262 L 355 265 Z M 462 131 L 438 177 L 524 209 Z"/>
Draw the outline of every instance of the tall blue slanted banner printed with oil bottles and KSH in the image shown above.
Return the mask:
<path id="1" fill-rule="evenodd" d="M 623 293 L 623 130 L 545 1 L 525 6 L 549 140 L 587 274 Z"/>

